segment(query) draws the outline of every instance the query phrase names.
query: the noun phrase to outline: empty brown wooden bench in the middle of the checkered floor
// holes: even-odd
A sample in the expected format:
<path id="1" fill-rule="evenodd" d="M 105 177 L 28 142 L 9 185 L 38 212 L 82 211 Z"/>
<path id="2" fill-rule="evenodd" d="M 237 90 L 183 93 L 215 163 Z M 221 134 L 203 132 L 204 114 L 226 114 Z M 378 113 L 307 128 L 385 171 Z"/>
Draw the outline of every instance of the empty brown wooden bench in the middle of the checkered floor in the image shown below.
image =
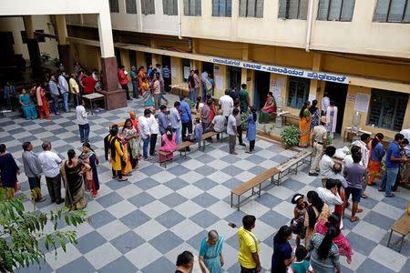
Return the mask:
<path id="1" fill-rule="evenodd" d="M 278 173 L 279 173 L 279 170 L 276 167 L 272 167 L 264 171 L 263 173 L 261 173 L 259 176 L 253 177 L 248 182 L 245 182 L 241 184 L 240 186 L 232 189 L 231 190 L 231 207 L 238 207 L 238 210 L 240 210 L 241 209 L 241 196 L 249 190 L 252 190 L 250 197 L 252 197 L 255 194 L 257 194 L 258 197 L 261 197 L 261 184 L 264 181 L 268 180 L 269 178 L 271 178 L 271 182 L 273 182 L 272 178 Z M 254 188 L 258 186 L 259 186 L 258 190 L 255 191 Z M 233 204 L 233 195 L 236 195 L 238 197 L 238 201 L 236 205 Z M 242 199 L 242 202 L 250 197 L 246 197 Z"/>

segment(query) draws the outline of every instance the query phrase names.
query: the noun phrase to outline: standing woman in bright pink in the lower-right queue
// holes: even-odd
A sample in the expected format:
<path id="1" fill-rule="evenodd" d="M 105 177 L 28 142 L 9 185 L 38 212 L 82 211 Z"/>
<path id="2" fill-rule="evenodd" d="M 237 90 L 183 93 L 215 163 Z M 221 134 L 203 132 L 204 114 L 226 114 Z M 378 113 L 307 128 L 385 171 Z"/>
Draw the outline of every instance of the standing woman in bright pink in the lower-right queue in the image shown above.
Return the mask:
<path id="1" fill-rule="evenodd" d="M 331 215 L 327 219 L 327 223 L 325 222 L 318 222 L 314 227 L 315 231 L 320 234 L 326 234 L 327 228 L 330 226 L 336 226 L 340 222 L 340 216 L 337 214 Z M 338 227 L 339 228 L 339 227 Z M 352 247 L 350 246 L 349 242 L 344 238 L 343 233 L 341 232 L 338 237 L 333 238 L 333 243 L 339 248 L 339 254 L 346 257 L 347 263 L 350 265 L 352 262 L 352 255 L 354 254 L 352 251 Z"/>

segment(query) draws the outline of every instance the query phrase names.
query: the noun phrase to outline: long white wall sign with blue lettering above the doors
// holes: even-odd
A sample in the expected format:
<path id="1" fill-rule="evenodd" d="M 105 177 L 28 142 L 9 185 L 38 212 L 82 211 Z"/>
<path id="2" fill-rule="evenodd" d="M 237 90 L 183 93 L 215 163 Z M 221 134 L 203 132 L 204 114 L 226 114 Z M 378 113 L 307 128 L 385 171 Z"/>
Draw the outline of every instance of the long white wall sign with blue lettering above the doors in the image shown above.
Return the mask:
<path id="1" fill-rule="evenodd" d="M 310 79 L 318 79 L 328 82 L 335 82 L 341 84 L 348 84 L 349 79 L 347 76 L 337 75 L 332 73 L 324 73 L 324 72 L 315 72 L 312 70 L 305 70 L 300 68 L 294 67 L 283 67 L 283 66 L 270 66 L 266 64 L 257 64 L 257 63 L 250 63 L 244 62 L 241 60 L 235 59 L 224 59 L 219 57 L 211 57 L 210 62 L 214 64 L 226 65 L 226 66 L 236 66 L 241 68 L 271 72 L 276 74 L 282 75 L 289 75 L 289 76 L 300 76 L 306 77 Z"/>

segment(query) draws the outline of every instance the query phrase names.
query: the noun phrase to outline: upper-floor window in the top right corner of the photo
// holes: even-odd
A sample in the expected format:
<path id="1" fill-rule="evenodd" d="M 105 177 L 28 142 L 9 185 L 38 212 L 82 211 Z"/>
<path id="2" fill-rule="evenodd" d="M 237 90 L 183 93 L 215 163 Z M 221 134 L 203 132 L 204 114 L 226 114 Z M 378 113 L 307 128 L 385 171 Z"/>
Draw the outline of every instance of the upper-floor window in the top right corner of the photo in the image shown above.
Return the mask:
<path id="1" fill-rule="evenodd" d="M 378 0 L 374 11 L 374 22 L 410 23 L 410 1 Z"/>

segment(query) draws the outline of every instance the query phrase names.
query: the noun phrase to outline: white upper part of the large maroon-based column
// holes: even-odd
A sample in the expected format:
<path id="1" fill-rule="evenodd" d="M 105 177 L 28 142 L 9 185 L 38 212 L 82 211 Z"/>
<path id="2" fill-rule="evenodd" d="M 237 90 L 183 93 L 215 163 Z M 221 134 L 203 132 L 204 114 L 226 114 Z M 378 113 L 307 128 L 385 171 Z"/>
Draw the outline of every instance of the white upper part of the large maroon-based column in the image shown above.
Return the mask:
<path id="1" fill-rule="evenodd" d="M 112 37 L 111 15 L 109 14 L 108 0 L 101 1 L 101 5 L 105 5 L 104 8 L 102 8 L 101 13 L 97 15 L 101 57 L 113 57 L 115 56 L 114 41 Z"/>

